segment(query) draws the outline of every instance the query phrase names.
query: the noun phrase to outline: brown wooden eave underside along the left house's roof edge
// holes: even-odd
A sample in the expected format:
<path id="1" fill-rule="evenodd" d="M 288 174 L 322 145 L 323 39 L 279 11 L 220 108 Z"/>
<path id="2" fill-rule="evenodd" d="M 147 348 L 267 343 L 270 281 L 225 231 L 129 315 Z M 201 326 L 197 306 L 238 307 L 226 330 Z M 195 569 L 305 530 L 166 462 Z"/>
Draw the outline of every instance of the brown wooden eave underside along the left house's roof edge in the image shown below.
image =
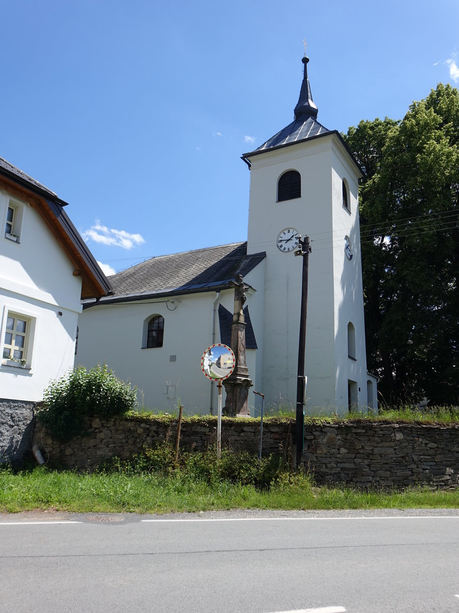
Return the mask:
<path id="1" fill-rule="evenodd" d="M 73 275 L 81 276 L 82 300 L 99 299 L 113 293 L 113 287 L 100 270 L 91 251 L 84 244 L 57 197 L 57 202 L 53 202 L 51 194 L 49 196 L 37 194 L 32 189 L 18 185 L 13 178 L 4 175 L 0 176 L 0 188 L 20 200 L 28 202 L 39 213 L 51 234 L 72 262 Z"/>

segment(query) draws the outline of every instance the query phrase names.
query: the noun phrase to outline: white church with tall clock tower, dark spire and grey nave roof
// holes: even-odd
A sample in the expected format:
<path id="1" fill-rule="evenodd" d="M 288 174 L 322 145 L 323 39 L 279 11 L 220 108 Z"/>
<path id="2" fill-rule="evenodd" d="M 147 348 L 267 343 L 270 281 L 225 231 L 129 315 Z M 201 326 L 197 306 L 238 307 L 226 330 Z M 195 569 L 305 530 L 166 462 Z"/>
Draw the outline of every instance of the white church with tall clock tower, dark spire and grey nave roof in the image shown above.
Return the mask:
<path id="1" fill-rule="evenodd" d="M 358 181 L 362 170 L 337 131 L 316 120 L 304 58 L 294 121 L 242 159 L 251 172 L 247 242 L 155 257 L 110 277 L 114 294 L 87 302 L 77 362 L 106 362 L 141 389 L 144 405 L 180 397 L 188 411 L 216 406 L 201 374 L 208 345 L 228 343 L 230 281 L 250 286 L 247 364 L 265 404 L 296 402 L 302 257 L 308 235 L 307 407 L 376 407 L 367 373 Z M 226 310 L 226 311 L 225 311 Z M 177 387 L 178 386 L 178 387 Z M 253 395 L 249 396 L 253 406 Z M 253 414 L 253 413 L 252 413 Z"/>

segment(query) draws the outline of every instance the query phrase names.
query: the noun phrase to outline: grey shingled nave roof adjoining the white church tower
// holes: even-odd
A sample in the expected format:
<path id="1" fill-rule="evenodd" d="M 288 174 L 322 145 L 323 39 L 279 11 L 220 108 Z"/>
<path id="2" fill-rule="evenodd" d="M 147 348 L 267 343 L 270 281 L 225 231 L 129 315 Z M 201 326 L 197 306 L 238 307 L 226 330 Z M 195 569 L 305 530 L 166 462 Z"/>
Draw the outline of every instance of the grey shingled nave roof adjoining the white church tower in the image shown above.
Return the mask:
<path id="1" fill-rule="evenodd" d="M 230 287 L 236 275 L 247 275 L 264 257 L 266 253 L 247 255 L 246 242 L 152 257 L 110 276 L 114 295 L 83 307 L 218 291 Z"/>

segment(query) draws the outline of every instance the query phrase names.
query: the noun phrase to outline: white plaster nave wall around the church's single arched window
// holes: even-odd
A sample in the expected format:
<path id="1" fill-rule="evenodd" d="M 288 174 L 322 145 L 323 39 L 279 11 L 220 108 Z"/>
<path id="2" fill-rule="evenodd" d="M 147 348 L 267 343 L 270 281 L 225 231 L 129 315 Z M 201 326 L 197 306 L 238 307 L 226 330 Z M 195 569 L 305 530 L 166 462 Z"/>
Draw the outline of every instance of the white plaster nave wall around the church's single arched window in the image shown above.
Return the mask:
<path id="1" fill-rule="evenodd" d="M 201 371 L 201 356 L 213 343 L 220 343 L 218 304 L 233 313 L 234 291 L 220 292 L 215 305 L 215 336 L 212 337 L 212 305 L 215 292 L 187 294 L 165 300 L 98 305 L 85 309 L 80 316 L 76 364 L 92 368 L 106 364 L 122 379 L 130 379 L 139 388 L 145 408 L 168 411 L 180 398 L 186 413 L 217 412 L 217 386 L 211 386 Z M 250 297 L 248 300 L 250 307 Z M 143 322 L 152 315 L 164 318 L 163 346 L 142 349 Z M 255 351 L 249 351 L 249 371 L 256 370 Z M 176 356 L 171 362 L 170 356 Z M 168 397 L 167 382 L 176 387 L 175 397 Z M 225 403 L 225 390 L 222 400 Z"/>

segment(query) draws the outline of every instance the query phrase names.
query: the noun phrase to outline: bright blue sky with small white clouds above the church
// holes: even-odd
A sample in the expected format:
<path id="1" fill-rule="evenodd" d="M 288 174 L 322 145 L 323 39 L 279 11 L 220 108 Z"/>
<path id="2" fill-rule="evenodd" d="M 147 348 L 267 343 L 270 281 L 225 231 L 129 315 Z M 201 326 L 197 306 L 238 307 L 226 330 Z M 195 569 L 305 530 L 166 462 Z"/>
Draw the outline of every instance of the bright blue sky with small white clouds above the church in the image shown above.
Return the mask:
<path id="1" fill-rule="evenodd" d="M 1 0 L 0 15 L 0 156 L 69 202 L 116 271 L 247 238 L 240 156 L 293 120 L 303 39 L 329 129 L 459 86 L 458 0 Z"/>

